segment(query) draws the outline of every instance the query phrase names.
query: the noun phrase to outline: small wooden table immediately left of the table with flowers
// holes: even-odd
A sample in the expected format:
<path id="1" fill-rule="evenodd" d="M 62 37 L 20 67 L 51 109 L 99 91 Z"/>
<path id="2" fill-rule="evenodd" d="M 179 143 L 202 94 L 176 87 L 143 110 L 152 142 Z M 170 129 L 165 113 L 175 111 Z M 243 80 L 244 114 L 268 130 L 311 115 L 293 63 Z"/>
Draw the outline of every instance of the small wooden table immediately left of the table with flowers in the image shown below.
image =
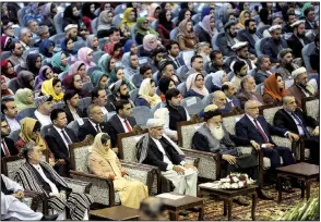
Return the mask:
<path id="1" fill-rule="evenodd" d="M 169 211 L 169 220 L 170 221 L 178 221 L 179 211 L 186 210 L 189 208 L 199 207 L 199 221 L 202 221 L 204 218 L 204 200 L 203 198 L 187 196 L 187 195 L 179 195 L 176 193 L 169 193 L 176 196 L 183 196 L 180 199 L 168 199 L 162 198 L 164 207 L 166 210 Z"/>

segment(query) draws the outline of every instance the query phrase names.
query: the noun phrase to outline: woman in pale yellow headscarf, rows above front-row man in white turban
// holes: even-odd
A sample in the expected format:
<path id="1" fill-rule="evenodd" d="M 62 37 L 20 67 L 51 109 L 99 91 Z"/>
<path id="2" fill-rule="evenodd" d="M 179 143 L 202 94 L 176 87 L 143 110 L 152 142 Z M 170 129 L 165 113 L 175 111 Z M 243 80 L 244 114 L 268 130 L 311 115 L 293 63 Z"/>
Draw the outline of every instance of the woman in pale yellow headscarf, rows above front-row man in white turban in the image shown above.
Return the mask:
<path id="1" fill-rule="evenodd" d="M 152 109 L 162 99 L 156 94 L 155 82 L 152 78 L 145 78 L 141 84 L 135 106 L 145 106 Z"/>

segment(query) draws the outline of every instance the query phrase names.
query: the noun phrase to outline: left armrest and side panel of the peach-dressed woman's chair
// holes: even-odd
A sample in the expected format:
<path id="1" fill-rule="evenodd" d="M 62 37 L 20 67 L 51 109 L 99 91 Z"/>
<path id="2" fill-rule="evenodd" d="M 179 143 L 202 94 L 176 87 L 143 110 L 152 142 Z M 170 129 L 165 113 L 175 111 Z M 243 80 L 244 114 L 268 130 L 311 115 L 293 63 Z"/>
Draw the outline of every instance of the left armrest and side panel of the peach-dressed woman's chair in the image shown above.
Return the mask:
<path id="1" fill-rule="evenodd" d="M 70 170 L 69 172 L 72 178 L 92 183 L 90 195 L 95 202 L 110 207 L 115 206 L 115 188 L 110 178 L 73 170 Z"/>

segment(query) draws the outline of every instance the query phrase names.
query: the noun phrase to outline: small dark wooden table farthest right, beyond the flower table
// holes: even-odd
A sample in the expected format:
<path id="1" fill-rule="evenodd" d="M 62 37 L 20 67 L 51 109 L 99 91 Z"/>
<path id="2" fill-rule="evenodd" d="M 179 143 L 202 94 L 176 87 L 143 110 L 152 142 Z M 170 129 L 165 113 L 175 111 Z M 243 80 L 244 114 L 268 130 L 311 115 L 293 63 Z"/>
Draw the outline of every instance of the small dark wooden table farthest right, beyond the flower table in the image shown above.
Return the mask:
<path id="1" fill-rule="evenodd" d="M 282 177 L 295 177 L 306 184 L 301 186 L 301 198 L 305 198 L 305 188 L 307 189 L 307 199 L 310 198 L 310 185 L 312 181 L 317 181 L 320 174 L 319 165 L 313 165 L 306 162 L 300 162 L 287 166 L 277 168 L 277 187 L 278 187 L 278 199 L 282 201 Z"/>

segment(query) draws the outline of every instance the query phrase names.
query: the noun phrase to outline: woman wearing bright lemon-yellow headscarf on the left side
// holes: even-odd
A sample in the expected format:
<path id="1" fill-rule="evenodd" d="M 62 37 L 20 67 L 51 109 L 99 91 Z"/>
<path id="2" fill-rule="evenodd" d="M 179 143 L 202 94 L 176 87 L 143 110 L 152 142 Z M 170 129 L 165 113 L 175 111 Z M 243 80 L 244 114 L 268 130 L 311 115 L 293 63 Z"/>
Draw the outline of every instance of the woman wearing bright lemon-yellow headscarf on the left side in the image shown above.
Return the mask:
<path id="1" fill-rule="evenodd" d="M 55 102 L 60 102 L 63 100 L 61 81 L 59 78 L 45 81 L 41 86 L 41 92 L 44 95 L 52 96 Z"/>

